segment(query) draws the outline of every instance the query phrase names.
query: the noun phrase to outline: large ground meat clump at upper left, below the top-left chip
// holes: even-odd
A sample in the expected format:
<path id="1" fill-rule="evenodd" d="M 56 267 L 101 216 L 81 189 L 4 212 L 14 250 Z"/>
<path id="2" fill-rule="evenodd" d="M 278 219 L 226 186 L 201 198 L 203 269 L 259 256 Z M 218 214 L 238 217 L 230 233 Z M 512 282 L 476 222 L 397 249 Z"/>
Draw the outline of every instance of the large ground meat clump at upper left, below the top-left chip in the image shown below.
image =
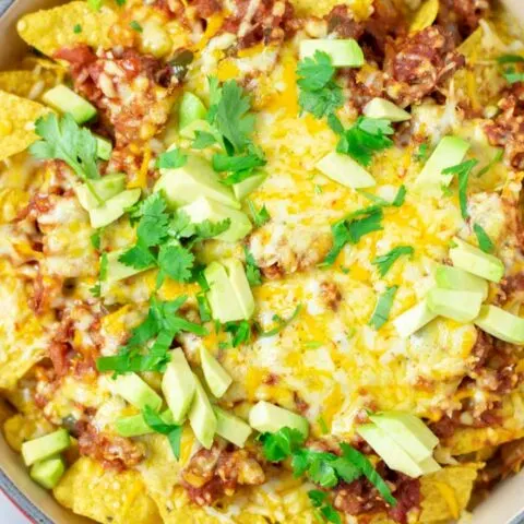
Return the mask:
<path id="1" fill-rule="evenodd" d="M 95 55 L 85 45 L 55 57 L 70 62 L 76 91 L 102 111 L 117 146 L 151 139 L 169 118 L 178 80 L 156 58 L 132 48 Z"/>

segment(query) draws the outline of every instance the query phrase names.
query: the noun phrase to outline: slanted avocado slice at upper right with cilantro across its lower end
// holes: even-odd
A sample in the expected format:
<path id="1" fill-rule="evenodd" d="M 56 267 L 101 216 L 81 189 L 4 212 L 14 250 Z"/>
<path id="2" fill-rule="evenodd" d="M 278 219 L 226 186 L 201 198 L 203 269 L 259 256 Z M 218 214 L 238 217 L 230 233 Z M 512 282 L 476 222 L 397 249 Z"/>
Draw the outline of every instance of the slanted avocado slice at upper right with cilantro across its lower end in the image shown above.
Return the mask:
<path id="1" fill-rule="evenodd" d="M 469 144 L 457 136 L 444 136 L 437 145 L 432 155 L 417 177 L 416 183 L 425 188 L 440 188 L 449 186 L 453 175 L 442 175 L 448 167 L 460 164 L 469 150 Z"/>

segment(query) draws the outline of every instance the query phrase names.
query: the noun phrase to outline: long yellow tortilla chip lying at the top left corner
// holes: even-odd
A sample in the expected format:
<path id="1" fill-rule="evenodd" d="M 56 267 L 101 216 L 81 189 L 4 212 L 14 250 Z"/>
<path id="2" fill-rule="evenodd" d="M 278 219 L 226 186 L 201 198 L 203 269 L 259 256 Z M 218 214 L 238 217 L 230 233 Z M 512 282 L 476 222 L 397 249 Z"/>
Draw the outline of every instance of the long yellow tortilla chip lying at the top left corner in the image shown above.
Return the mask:
<path id="1" fill-rule="evenodd" d="M 19 21 L 17 31 L 29 46 L 51 57 L 62 47 L 78 44 L 111 47 L 109 29 L 117 20 L 117 13 L 106 5 L 94 11 L 85 2 L 71 2 L 26 14 Z M 74 33 L 75 24 L 82 27 L 81 33 Z"/>

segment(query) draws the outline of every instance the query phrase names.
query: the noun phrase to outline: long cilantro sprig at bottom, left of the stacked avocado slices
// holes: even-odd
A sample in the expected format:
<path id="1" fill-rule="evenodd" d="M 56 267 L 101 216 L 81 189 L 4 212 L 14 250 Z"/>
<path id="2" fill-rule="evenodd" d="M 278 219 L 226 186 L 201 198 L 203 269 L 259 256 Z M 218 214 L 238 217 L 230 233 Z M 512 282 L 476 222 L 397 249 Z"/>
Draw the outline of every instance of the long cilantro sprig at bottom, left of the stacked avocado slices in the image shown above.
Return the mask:
<path id="1" fill-rule="evenodd" d="M 323 488 L 333 488 L 341 481 L 353 483 L 365 476 L 389 504 L 396 504 L 390 488 L 367 456 L 349 444 L 340 444 L 342 456 L 312 450 L 303 445 L 306 442 L 303 434 L 290 428 L 283 428 L 275 433 L 262 433 L 259 440 L 267 461 L 282 462 L 291 458 L 295 477 L 306 475 Z"/>

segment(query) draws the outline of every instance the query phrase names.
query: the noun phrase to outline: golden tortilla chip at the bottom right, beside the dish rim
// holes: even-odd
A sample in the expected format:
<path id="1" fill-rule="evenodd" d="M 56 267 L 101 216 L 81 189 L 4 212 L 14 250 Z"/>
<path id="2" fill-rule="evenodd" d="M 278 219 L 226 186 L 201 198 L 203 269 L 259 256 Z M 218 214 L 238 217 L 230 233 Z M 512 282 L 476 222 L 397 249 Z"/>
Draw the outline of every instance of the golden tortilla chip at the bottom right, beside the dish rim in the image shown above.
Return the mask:
<path id="1" fill-rule="evenodd" d="M 466 509 L 483 463 L 448 466 L 437 473 L 422 477 L 422 495 L 419 522 L 439 522 L 456 520 Z"/>

